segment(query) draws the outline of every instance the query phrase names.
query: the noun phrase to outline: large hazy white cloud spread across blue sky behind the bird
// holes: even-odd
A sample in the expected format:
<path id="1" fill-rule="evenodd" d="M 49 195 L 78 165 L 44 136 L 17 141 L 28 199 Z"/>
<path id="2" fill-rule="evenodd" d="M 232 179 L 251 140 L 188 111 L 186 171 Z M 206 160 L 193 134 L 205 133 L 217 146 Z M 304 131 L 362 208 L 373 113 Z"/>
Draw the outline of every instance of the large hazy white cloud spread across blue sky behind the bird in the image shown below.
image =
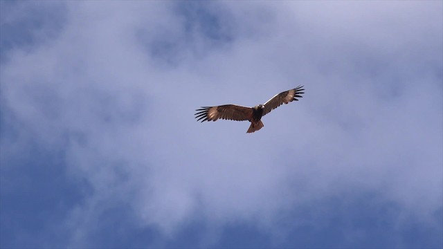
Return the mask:
<path id="1" fill-rule="evenodd" d="M 65 147 L 93 187 L 67 221 L 73 246 L 120 202 L 165 234 L 196 213 L 265 229 L 350 190 L 415 217 L 442 209 L 441 3 L 211 3 L 199 11 L 230 37 L 217 42 L 174 2 L 66 5 L 57 37 L 8 51 L 1 82 L 3 110 Z M 305 98 L 252 136 L 245 122 L 192 118 L 298 84 Z"/>

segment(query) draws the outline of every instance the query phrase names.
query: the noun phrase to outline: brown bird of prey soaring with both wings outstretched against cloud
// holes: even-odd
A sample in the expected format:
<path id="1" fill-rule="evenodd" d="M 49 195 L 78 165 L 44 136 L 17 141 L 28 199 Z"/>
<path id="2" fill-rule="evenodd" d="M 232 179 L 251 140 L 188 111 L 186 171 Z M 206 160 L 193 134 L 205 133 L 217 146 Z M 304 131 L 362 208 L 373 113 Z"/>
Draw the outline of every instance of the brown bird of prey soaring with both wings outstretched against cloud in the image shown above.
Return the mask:
<path id="1" fill-rule="evenodd" d="M 273 96 L 271 100 L 268 100 L 264 104 L 257 104 L 255 107 L 242 107 L 235 104 L 224 104 L 217 107 L 201 107 L 197 109 L 195 113 L 195 118 L 197 121 L 215 121 L 219 118 L 224 120 L 236 120 L 236 121 L 249 121 L 251 126 L 246 133 L 252 133 L 258 131 L 264 127 L 261 120 L 262 116 L 273 109 L 280 107 L 280 105 L 287 104 L 293 100 L 298 101 L 297 98 L 302 98 L 302 93 L 305 89 L 303 86 L 297 86 L 295 89 L 284 91 Z"/>

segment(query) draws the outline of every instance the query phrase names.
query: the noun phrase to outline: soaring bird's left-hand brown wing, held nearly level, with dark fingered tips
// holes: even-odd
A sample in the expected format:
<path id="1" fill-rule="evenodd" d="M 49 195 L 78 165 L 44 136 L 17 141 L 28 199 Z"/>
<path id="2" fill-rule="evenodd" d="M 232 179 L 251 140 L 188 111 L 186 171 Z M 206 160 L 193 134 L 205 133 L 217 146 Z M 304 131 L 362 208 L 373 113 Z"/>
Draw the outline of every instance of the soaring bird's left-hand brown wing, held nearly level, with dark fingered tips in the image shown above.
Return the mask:
<path id="1" fill-rule="evenodd" d="M 235 104 L 225 104 L 217 107 L 201 107 L 195 110 L 197 121 L 215 121 L 219 118 L 224 120 L 244 121 L 251 120 L 253 110 L 251 107 L 241 107 Z"/>

